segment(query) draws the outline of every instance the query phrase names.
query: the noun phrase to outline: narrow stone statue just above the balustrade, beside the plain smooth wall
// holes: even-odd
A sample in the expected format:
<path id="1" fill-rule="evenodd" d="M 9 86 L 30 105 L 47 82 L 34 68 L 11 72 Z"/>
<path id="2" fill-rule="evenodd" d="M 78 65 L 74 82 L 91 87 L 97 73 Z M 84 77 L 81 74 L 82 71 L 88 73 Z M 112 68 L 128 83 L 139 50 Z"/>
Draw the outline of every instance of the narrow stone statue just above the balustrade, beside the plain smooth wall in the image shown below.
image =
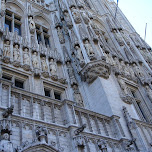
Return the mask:
<path id="1" fill-rule="evenodd" d="M 80 94 L 79 88 L 77 85 L 73 85 L 73 90 L 74 90 L 74 100 L 75 102 L 80 106 L 84 107 L 82 96 Z"/>

